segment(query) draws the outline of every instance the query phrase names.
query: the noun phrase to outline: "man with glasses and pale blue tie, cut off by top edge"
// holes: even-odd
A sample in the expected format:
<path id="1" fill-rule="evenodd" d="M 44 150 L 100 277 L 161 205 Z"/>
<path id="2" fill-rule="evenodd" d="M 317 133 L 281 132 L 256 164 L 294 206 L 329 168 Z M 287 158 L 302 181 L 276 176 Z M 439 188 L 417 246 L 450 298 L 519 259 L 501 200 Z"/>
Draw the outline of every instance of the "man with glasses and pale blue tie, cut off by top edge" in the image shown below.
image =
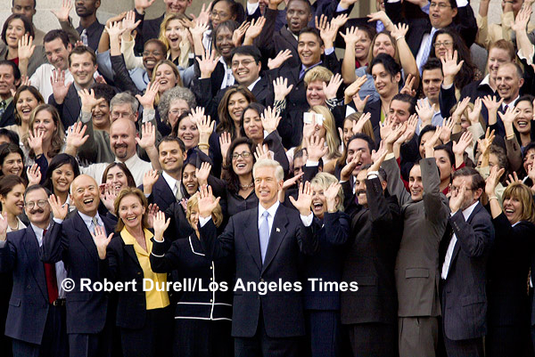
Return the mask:
<path id="1" fill-rule="evenodd" d="M 386 14 L 393 23 L 408 23 L 407 45 L 416 57 L 416 65 L 422 74 L 422 68 L 432 51 L 432 39 L 440 28 L 452 28 L 465 40 L 468 48 L 473 44 L 477 33 L 477 24 L 473 10 L 467 0 L 427 0 L 401 4 L 399 0 L 387 0 Z M 405 11 L 403 11 L 405 8 Z M 415 14 L 404 19 L 403 13 Z M 429 20 L 424 19 L 428 13 Z"/>

